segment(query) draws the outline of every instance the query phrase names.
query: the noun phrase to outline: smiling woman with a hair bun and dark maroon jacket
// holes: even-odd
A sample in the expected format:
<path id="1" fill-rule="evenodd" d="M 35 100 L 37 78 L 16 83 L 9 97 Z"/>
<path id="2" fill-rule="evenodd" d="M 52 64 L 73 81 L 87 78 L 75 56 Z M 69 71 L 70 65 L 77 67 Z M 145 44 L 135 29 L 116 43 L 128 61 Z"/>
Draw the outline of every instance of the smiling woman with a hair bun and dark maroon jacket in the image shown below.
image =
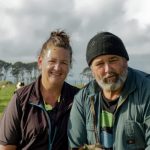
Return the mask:
<path id="1" fill-rule="evenodd" d="M 39 78 L 19 89 L 0 124 L 0 149 L 67 150 L 67 123 L 78 88 L 66 83 L 72 62 L 69 36 L 54 31 L 38 57 Z"/>

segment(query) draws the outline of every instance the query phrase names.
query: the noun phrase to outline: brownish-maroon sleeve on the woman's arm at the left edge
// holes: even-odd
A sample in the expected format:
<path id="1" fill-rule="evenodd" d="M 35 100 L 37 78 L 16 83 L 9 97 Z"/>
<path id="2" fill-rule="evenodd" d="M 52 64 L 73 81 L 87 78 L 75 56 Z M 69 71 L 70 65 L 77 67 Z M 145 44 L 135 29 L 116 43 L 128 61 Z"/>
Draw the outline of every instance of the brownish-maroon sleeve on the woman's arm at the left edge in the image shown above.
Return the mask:
<path id="1" fill-rule="evenodd" d="M 14 94 L 0 121 L 0 145 L 17 145 L 19 143 L 19 113 L 17 95 Z"/>

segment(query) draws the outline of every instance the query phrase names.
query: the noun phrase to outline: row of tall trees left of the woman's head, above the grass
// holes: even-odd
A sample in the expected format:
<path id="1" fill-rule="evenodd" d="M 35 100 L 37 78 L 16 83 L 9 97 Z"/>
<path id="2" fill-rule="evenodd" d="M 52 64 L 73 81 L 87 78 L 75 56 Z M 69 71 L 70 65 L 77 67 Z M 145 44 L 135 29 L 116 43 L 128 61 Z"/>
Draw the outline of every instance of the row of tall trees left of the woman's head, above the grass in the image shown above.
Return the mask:
<path id="1" fill-rule="evenodd" d="M 9 63 L 0 60 L 0 81 L 10 80 L 14 83 L 23 81 L 30 83 L 39 76 L 37 62 L 23 63 L 21 61 Z"/>

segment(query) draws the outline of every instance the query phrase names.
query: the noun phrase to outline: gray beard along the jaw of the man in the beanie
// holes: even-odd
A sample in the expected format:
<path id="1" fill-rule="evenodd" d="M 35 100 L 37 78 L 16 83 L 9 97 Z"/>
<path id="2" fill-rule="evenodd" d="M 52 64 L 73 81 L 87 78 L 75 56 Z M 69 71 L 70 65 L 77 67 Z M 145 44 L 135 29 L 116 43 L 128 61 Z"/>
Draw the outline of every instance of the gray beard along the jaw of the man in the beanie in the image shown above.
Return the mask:
<path id="1" fill-rule="evenodd" d="M 116 91 L 119 89 L 125 82 L 127 78 L 128 70 L 124 70 L 123 74 L 119 76 L 117 82 L 115 83 L 104 83 L 103 80 L 99 80 L 98 85 L 103 89 L 107 91 Z"/>

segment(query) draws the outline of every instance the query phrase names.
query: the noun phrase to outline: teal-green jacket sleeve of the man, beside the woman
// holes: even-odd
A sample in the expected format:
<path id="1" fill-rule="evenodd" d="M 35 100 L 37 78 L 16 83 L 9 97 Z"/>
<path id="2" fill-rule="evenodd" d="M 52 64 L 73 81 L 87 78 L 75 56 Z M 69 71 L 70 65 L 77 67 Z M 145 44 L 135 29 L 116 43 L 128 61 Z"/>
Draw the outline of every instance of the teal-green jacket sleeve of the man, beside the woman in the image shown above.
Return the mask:
<path id="1" fill-rule="evenodd" d="M 86 143 L 86 125 L 81 91 L 75 96 L 68 122 L 70 148 L 78 148 Z"/>

